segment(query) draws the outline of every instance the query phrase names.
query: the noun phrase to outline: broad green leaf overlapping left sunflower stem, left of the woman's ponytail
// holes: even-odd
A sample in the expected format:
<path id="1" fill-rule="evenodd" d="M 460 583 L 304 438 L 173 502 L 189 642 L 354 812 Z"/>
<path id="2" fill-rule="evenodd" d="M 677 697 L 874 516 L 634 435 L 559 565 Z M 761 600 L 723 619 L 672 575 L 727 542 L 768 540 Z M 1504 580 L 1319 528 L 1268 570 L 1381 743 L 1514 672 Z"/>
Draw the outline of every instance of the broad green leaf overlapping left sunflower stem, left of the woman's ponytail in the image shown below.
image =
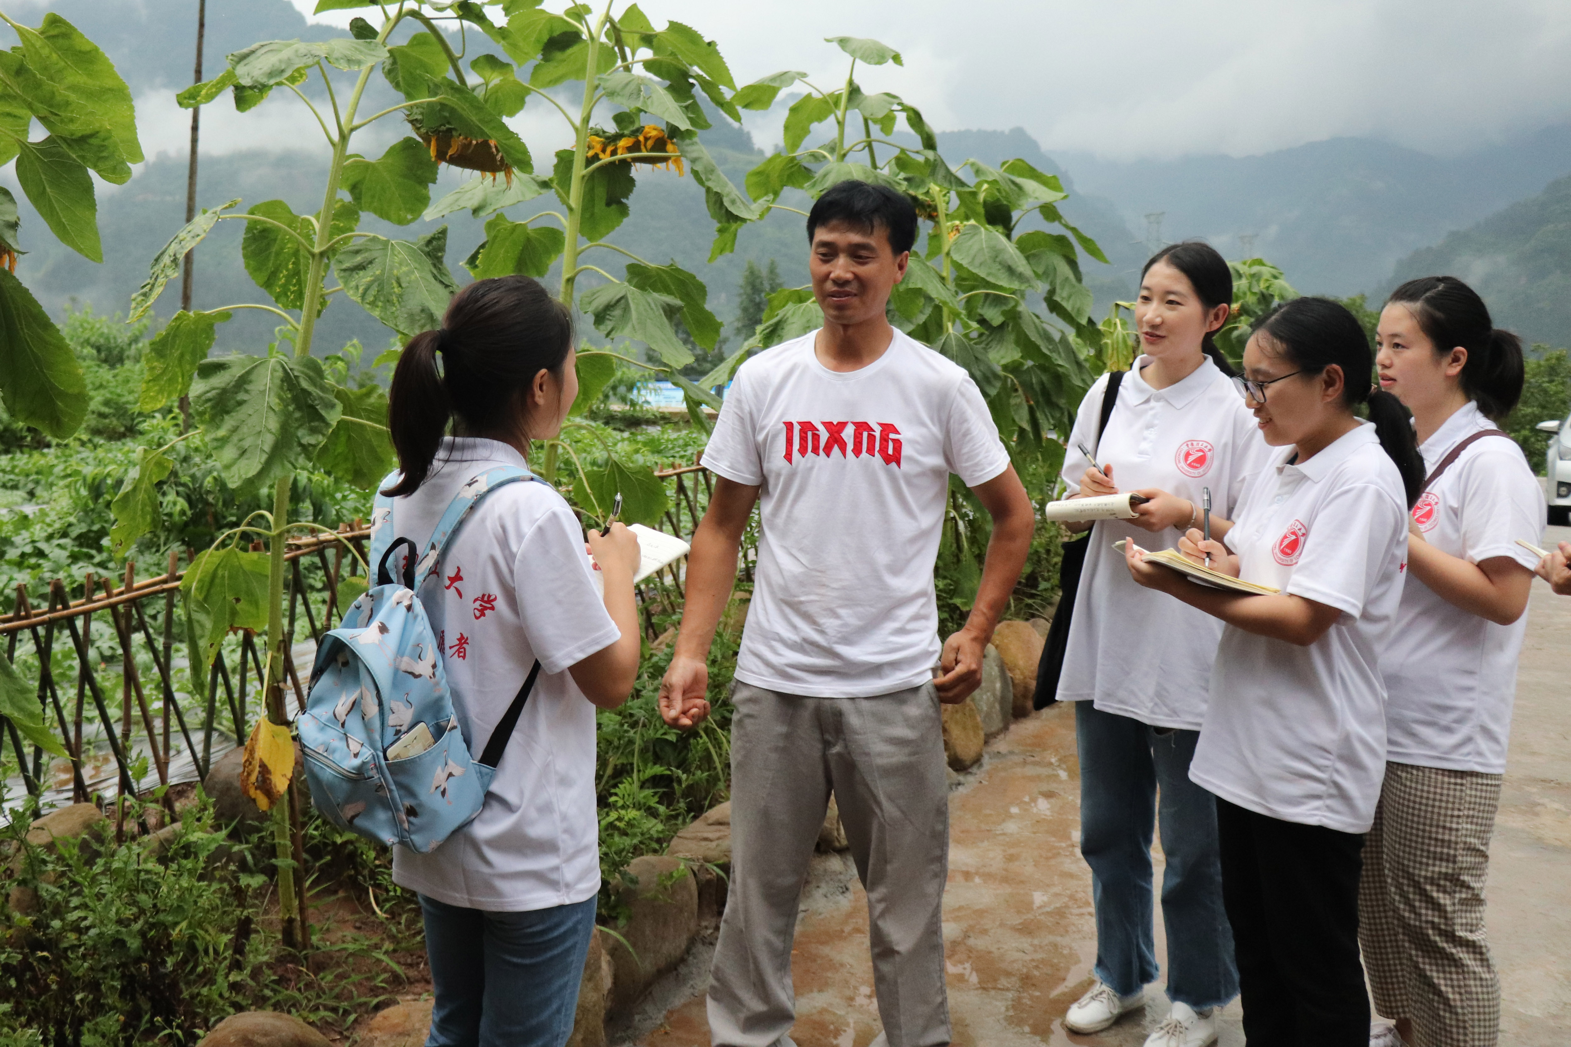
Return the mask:
<path id="1" fill-rule="evenodd" d="M 311 460 L 342 408 L 314 356 L 218 356 L 196 366 L 192 414 L 225 483 L 251 491 Z"/>

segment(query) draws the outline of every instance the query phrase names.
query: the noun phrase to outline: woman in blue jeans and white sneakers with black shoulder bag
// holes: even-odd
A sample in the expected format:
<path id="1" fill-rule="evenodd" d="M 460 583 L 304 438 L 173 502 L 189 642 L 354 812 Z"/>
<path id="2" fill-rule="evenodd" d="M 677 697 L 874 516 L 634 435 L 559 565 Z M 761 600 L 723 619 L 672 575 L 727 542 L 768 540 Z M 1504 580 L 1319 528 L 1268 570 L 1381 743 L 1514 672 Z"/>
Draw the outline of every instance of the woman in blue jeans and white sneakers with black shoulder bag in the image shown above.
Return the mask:
<path id="1" fill-rule="evenodd" d="M 1144 352 L 1126 374 L 1104 375 L 1086 396 L 1064 460 L 1070 498 L 1122 488 L 1152 499 L 1136 520 L 1097 521 L 1057 680 L 1057 699 L 1076 702 L 1081 854 L 1097 907 L 1097 983 L 1064 1023 L 1095 1033 L 1131 1009 L 1144 1011 L 1144 987 L 1158 976 L 1150 855 L 1156 823 L 1167 860 L 1163 918 L 1172 1008 L 1150 1047 L 1213 1042 L 1213 1011 L 1238 994 L 1216 804 L 1189 782 L 1222 625 L 1130 586 L 1114 543 L 1174 545 L 1186 527 L 1200 526 L 1205 488 L 1218 515 L 1230 515 L 1244 479 L 1269 454 L 1211 344 L 1232 294 L 1227 262 L 1205 243 L 1178 243 L 1152 257 L 1134 305 Z M 1098 433 L 1114 378 L 1122 381 Z"/>

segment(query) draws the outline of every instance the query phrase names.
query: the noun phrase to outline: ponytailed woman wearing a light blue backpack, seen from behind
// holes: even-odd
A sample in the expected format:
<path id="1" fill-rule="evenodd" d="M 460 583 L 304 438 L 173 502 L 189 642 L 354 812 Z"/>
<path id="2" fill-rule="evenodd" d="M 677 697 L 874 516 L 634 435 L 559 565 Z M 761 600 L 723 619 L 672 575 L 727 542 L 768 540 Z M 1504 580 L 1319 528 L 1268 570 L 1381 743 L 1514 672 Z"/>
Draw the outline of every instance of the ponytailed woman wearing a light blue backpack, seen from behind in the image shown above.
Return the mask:
<path id="1" fill-rule="evenodd" d="M 495 466 L 528 468 L 578 394 L 572 320 L 528 276 L 460 290 L 441 330 L 410 339 L 388 427 L 394 534 L 424 546 L 452 496 Z M 463 523 L 419 593 L 467 739 L 492 735 L 539 661 L 485 805 L 430 854 L 394 848 L 419 895 L 435 989 L 434 1045 L 562 1047 L 600 890 L 595 706 L 638 673 L 638 538 L 589 532 L 545 483 L 507 483 Z M 595 592 L 592 570 L 605 581 Z"/>

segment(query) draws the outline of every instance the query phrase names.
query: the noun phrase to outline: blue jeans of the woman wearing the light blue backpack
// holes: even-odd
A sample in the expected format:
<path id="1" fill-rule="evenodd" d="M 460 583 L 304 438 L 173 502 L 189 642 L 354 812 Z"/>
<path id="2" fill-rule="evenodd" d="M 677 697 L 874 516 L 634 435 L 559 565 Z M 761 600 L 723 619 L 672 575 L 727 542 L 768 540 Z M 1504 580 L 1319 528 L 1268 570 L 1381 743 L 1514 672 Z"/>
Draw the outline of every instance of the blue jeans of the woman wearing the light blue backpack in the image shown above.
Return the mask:
<path id="1" fill-rule="evenodd" d="M 426 1047 L 562 1047 L 595 899 L 485 912 L 419 896 L 437 1003 Z"/>

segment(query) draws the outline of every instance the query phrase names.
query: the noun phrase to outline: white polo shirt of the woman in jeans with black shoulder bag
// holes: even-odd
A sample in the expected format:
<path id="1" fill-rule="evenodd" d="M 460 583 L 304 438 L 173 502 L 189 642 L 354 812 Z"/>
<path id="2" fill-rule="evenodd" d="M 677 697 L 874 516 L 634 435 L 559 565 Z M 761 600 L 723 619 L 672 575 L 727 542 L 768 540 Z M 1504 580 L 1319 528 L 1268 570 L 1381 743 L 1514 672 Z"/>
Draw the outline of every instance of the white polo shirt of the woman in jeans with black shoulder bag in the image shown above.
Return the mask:
<path id="1" fill-rule="evenodd" d="M 1232 378 L 1210 359 L 1183 381 L 1153 389 L 1141 375 L 1148 356 L 1119 386 L 1108 432 L 1097 443 L 1103 375 L 1081 400 L 1064 482 L 1079 493 L 1090 466 L 1076 444 L 1112 463 L 1120 491 L 1156 487 L 1200 507 L 1200 488 L 1211 488 L 1211 512 L 1232 520 L 1244 480 L 1271 457 L 1254 414 Z M 1211 661 L 1222 636 L 1218 618 L 1130 579 L 1123 554 L 1112 548 L 1130 538 L 1147 549 L 1178 545 L 1183 531 L 1141 531 L 1126 520 L 1098 520 L 1092 527 L 1070 623 L 1068 648 L 1059 675 L 1059 700 L 1092 700 L 1098 710 L 1155 727 L 1200 730 L 1211 691 Z"/>

